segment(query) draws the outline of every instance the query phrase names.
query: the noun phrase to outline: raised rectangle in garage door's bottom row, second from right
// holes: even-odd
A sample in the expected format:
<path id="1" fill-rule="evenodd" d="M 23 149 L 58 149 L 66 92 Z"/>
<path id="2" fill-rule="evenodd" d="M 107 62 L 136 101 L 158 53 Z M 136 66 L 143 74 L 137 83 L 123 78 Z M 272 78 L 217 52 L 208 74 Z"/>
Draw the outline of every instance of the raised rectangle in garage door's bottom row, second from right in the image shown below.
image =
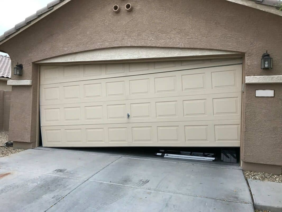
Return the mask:
<path id="1" fill-rule="evenodd" d="M 185 126 L 186 142 L 208 142 L 208 126 Z"/>

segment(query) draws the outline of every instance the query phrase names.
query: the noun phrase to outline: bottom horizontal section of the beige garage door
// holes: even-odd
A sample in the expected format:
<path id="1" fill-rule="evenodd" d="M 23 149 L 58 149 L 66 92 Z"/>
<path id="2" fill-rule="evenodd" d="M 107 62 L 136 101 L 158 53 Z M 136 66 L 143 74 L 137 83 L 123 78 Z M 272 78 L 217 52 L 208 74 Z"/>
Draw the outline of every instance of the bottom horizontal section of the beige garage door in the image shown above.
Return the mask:
<path id="1" fill-rule="evenodd" d="M 45 147 L 239 147 L 240 120 L 43 126 Z"/>

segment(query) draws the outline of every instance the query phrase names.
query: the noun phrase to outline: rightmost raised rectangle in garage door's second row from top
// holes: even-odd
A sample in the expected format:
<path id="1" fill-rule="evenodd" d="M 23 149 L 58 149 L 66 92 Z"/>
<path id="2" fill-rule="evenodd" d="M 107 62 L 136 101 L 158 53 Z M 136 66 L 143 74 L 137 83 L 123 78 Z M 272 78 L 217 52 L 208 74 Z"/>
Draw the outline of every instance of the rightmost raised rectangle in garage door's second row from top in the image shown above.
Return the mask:
<path id="1" fill-rule="evenodd" d="M 237 86 L 236 70 L 211 73 L 212 88 L 234 88 Z"/>

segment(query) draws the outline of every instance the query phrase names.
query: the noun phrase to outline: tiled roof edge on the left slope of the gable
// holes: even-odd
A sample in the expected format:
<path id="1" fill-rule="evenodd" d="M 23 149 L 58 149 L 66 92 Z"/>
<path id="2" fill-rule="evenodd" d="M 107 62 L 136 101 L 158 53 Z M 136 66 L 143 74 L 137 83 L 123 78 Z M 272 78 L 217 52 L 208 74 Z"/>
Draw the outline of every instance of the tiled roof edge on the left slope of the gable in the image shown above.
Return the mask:
<path id="1" fill-rule="evenodd" d="M 70 1 L 71 0 L 55 0 L 50 2 L 47 6 L 39 9 L 35 14 L 29 16 L 24 21 L 17 23 L 15 27 L 7 30 L 3 35 L 0 35 L 0 45 Z"/>

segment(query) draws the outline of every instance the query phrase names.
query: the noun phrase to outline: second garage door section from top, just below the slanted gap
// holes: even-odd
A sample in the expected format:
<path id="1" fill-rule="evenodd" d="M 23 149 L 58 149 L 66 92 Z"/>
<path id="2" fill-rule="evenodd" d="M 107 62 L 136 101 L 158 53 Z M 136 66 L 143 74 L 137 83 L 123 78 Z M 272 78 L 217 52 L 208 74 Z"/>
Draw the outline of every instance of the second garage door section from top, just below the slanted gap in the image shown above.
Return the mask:
<path id="1" fill-rule="evenodd" d="M 230 77 L 234 74 L 222 74 L 235 71 L 236 79 Z M 233 65 L 41 85 L 41 105 L 241 92 L 241 72 L 241 65 Z"/>

